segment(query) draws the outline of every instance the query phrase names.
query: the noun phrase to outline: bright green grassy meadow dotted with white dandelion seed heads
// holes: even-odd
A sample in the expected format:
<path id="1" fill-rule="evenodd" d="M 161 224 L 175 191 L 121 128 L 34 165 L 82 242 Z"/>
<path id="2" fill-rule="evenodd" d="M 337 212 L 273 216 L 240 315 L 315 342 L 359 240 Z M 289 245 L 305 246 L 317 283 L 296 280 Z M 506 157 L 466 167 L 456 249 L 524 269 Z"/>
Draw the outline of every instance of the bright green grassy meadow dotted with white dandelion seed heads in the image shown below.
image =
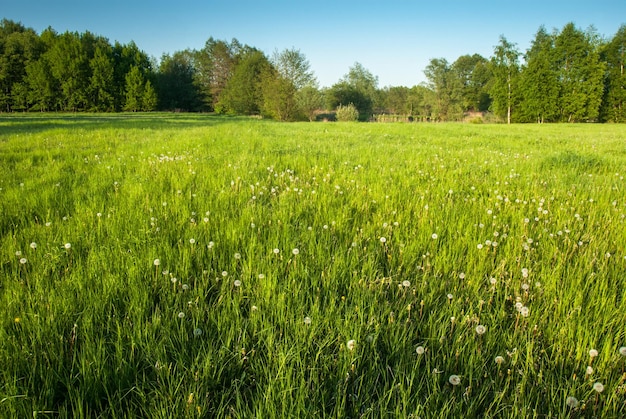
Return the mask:
<path id="1" fill-rule="evenodd" d="M 0 417 L 626 416 L 619 125 L 0 118 Z"/>

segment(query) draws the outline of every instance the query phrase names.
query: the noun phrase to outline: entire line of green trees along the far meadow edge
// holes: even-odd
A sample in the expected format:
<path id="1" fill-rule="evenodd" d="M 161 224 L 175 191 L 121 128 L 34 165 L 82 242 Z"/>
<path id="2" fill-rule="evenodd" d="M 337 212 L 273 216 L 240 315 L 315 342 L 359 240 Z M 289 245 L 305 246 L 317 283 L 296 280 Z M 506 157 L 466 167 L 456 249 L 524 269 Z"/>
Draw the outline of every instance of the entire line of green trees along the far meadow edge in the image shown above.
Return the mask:
<path id="1" fill-rule="evenodd" d="M 157 62 L 134 42 L 90 32 L 37 34 L 0 22 L 0 112 L 192 111 L 262 115 L 282 121 L 349 115 L 360 120 L 625 122 L 626 25 L 610 39 L 573 23 L 540 27 L 522 53 L 504 36 L 493 55 L 430 60 L 427 82 L 379 87 L 360 63 L 319 88 L 299 50 L 267 56 L 209 38 L 199 50 Z M 349 107 L 349 109 L 348 109 Z M 340 112 L 335 113 L 335 111 Z"/>

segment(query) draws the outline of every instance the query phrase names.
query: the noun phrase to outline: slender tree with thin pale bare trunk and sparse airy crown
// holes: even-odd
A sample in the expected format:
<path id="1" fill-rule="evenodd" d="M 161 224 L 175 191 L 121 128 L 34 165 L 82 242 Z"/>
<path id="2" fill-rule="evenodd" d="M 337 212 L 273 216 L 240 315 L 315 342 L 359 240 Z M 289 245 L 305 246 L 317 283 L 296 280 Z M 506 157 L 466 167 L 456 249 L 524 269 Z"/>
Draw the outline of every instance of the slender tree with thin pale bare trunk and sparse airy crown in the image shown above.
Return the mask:
<path id="1" fill-rule="evenodd" d="M 496 115 L 506 117 L 507 124 L 512 121 L 513 107 L 517 104 L 519 76 L 520 76 L 520 53 L 515 44 L 510 43 L 504 36 L 494 49 L 491 58 L 491 70 L 493 74 L 491 84 L 492 108 Z"/>

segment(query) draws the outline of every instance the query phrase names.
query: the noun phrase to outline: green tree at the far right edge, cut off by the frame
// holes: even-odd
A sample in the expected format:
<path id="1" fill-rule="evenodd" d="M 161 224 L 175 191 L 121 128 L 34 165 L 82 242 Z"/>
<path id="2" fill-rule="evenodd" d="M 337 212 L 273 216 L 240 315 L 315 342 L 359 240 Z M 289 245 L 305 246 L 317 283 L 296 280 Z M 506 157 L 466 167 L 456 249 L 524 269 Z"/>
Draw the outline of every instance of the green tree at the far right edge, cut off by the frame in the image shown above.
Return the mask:
<path id="1" fill-rule="evenodd" d="M 626 25 L 604 46 L 602 61 L 607 66 L 602 118 L 626 122 Z"/>

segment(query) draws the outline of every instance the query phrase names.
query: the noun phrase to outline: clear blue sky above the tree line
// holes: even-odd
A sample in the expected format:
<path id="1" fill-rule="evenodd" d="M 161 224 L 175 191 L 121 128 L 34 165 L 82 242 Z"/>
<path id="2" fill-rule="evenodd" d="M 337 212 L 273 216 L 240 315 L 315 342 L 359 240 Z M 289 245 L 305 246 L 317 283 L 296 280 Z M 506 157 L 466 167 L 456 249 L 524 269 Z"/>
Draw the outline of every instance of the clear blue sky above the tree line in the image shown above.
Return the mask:
<path id="1" fill-rule="evenodd" d="M 626 24 L 626 0 L 596 1 L 133 1 L 5 0 L 0 18 L 41 32 L 90 31 L 151 56 L 200 49 L 209 37 L 256 47 L 268 56 L 296 48 L 320 86 L 331 86 L 355 63 L 379 86 L 424 81 L 431 58 L 488 58 L 500 35 L 524 52 L 539 26 L 574 22 L 612 37 Z"/>

